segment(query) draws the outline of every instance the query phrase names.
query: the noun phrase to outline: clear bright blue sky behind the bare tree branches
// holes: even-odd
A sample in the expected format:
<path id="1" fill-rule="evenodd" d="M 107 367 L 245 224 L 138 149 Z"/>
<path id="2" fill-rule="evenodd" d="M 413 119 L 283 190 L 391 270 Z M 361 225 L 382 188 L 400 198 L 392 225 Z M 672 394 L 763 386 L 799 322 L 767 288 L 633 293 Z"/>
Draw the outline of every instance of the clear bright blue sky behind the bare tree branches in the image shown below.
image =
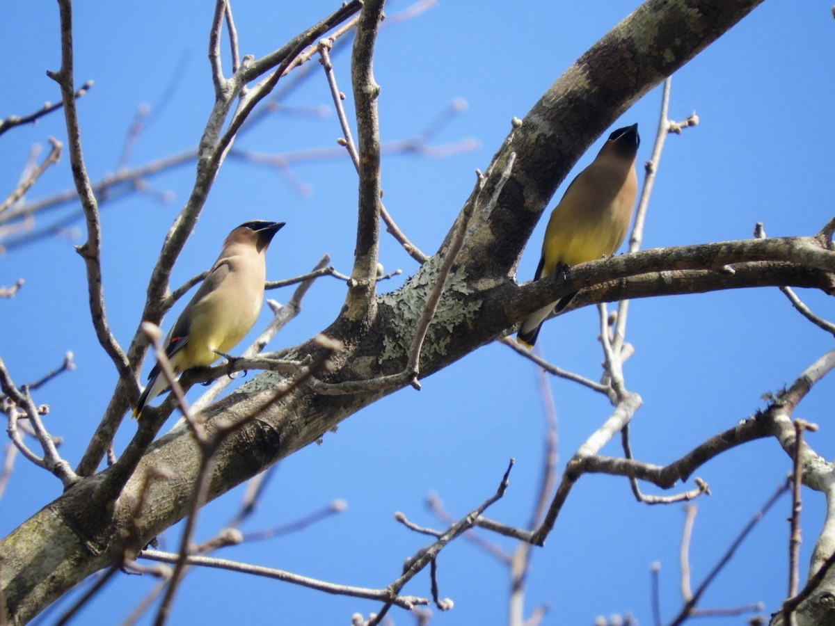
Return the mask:
<path id="1" fill-rule="evenodd" d="M 45 73 L 59 66 L 58 8 L 54 3 L 6 4 L 0 76 L 11 87 L 0 93 L 0 118 L 26 114 L 59 98 Z M 318 0 L 240 3 L 235 20 L 241 52 L 267 53 L 335 6 Z M 388 13 L 406 6 L 392 3 Z M 443 159 L 385 156 L 387 208 L 417 245 L 427 252 L 438 247 L 472 188 L 473 169 L 488 165 L 509 120 L 523 117 L 564 68 L 637 6 L 597 0 L 521 2 L 511 9 L 496 1 L 478 3 L 478 8 L 447 2 L 382 31 L 375 59 L 382 85 L 382 139 L 408 139 L 422 132 L 453 98 L 463 98 L 466 111 L 444 126 L 432 144 L 477 142 L 475 149 Z M 130 166 L 195 146 L 212 103 L 206 61 L 211 10 L 210 3 L 200 2 L 77 3 L 76 79 L 79 84 L 95 81 L 78 103 L 84 156 L 94 180 L 117 168 L 126 130 L 140 104 L 150 105 L 152 118 L 134 146 Z M 701 124 L 667 141 L 645 248 L 742 239 L 751 236 L 757 221 L 765 224 L 768 235 L 811 235 L 832 216 L 835 142 L 828 120 L 835 101 L 833 29 L 827 3 L 764 3 L 676 73 L 670 116 L 684 119 L 695 110 Z M 337 55 L 334 61 L 340 86 L 350 94 L 348 55 Z M 335 145 L 340 131 L 321 70 L 316 68 L 285 103 L 330 113 L 272 115 L 235 148 L 286 154 Z M 656 88 L 615 124 L 640 124 L 641 162 L 649 158 L 659 104 Z M 350 111 L 350 95 L 348 105 Z M 13 189 L 29 149 L 45 144 L 49 135 L 63 139 L 61 114 L 0 138 L 0 189 Z M 576 171 L 588 164 L 599 145 L 579 160 Z M 208 267 L 225 233 L 251 219 L 287 222 L 268 255 L 269 278 L 304 273 L 325 253 L 338 270 L 349 272 L 356 216 L 352 165 L 347 158 L 322 159 L 296 164 L 291 174 L 307 193 L 275 169 L 228 159 L 172 283 L 179 285 Z M 112 329 L 123 345 L 139 321 L 162 238 L 193 179 L 194 166 L 186 164 L 148 179 L 157 193 L 133 194 L 104 206 L 104 294 Z M 69 186 L 64 156 L 28 199 Z M 160 202 L 159 192 L 172 200 Z M 66 206 L 38 215 L 37 226 L 75 209 Z M 544 220 L 519 264 L 520 281 L 534 274 L 543 228 Z M 83 263 L 73 250 L 82 242 L 83 237 L 68 233 L 0 257 L 0 285 L 26 280 L 13 300 L 0 301 L 6 330 L 0 355 L 15 380 L 33 381 L 58 366 L 65 351 L 74 353 L 76 369 L 36 396 L 50 405 L 48 427 L 64 437 L 61 451 L 73 465 L 116 379 L 89 321 Z M 416 269 L 387 237 L 381 262 L 387 271 L 403 270 L 402 276 L 382 284 L 382 290 L 397 287 Z M 344 290 L 337 280 L 317 281 L 303 314 L 272 346 L 292 346 L 321 330 L 337 316 Z M 799 294 L 822 316 L 832 317 L 826 296 L 803 290 Z M 286 301 L 290 290 L 268 297 Z M 261 326 L 268 313 L 265 307 Z M 596 311 L 579 310 L 546 324 L 539 341 L 551 361 L 596 379 L 602 359 L 597 328 Z M 625 366 L 626 384 L 644 400 L 632 422 L 633 449 L 640 459 L 659 464 L 762 408 L 764 393 L 790 383 L 831 346 L 831 337 L 802 320 L 776 289 L 635 301 L 627 332 L 636 353 Z M 605 419 L 610 406 L 565 381 L 552 380 L 551 389 L 563 463 Z M 831 457 L 835 447 L 826 422 L 832 391 L 832 381 L 822 381 L 798 411 L 798 416 L 821 423 L 821 432 L 810 436 L 810 443 L 824 457 Z M 190 397 L 199 393 L 193 390 Z M 117 447 L 124 446 L 132 429 L 124 424 Z M 543 429 L 534 366 L 504 346 L 485 346 L 426 379 L 423 391 L 407 389 L 377 402 L 343 422 L 338 432 L 326 434 L 321 446 L 282 462 L 245 529 L 290 522 L 337 498 L 347 501 L 345 512 L 301 533 L 227 548 L 219 556 L 332 582 L 383 587 L 397 578 L 403 558 L 427 543 L 395 523 L 393 513 L 400 510 L 416 523 L 440 526 L 423 507 L 427 492 L 437 492 L 450 512 L 463 514 L 493 493 L 509 457 L 515 457 L 509 491 L 489 516 L 526 523 L 539 480 Z M 618 454 L 617 442 L 604 452 Z M 789 468 L 777 443 L 765 440 L 731 451 L 697 472 L 710 483 L 713 495 L 697 502 L 691 545 L 695 583 Z M 0 500 L 0 531 L 8 533 L 59 493 L 58 481 L 18 458 Z M 225 523 L 240 494 L 235 490 L 205 508 L 199 540 Z M 778 507 L 743 544 L 702 606 L 762 601 L 767 612 L 777 608 L 787 586 L 788 500 Z M 822 512 L 822 497 L 804 491 L 804 570 Z M 649 571 L 657 561 L 662 612 L 665 621 L 671 619 L 681 606 L 677 553 L 683 521 L 681 505 L 636 503 L 625 480 L 584 477 L 547 546 L 534 551 L 527 606 L 548 603 L 551 612 L 545 623 L 592 623 L 595 615 L 625 612 L 650 623 Z M 176 537 L 176 530 L 167 533 L 170 547 Z M 503 539 L 494 541 L 514 548 Z M 445 550 L 439 582 L 455 608 L 444 614 L 435 609 L 433 623 L 506 623 L 508 572 L 479 548 L 459 541 Z M 150 577 L 120 576 L 89 605 L 83 622 L 121 621 L 154 583 Z M 416 578 L 406 592 L 428 594 L 427 575 Z M 352 613 L 367 615 L 377 608 L 375 603 L 286 583 L 195 571 L 180 590 L 170 623 L 348 623 Z M 403 613 L 390 614 L 396 623 L 411 622 Z M 716 623 L 740 621 L 719 618 Z"/>

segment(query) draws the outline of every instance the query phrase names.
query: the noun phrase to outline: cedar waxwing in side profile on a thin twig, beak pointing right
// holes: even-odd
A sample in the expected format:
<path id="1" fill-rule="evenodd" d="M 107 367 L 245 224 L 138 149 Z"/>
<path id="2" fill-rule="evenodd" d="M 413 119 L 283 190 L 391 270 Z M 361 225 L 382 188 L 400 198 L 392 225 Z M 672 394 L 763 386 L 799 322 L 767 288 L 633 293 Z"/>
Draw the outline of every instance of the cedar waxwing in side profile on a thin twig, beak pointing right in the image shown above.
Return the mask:
<path id="1" fill-rule="evenodd" d="M 227 356 L 223 353 L 234 348 L 255 325 L 264 300 L 264 256 L 283 225 L 253 220 L 226 237 L 209 275 L 165 338 L 165 355 L 176 374 Z M 144 406 L 167 387 L 157 363 L 134 406 L 134 417 L 141 416 Z"/>

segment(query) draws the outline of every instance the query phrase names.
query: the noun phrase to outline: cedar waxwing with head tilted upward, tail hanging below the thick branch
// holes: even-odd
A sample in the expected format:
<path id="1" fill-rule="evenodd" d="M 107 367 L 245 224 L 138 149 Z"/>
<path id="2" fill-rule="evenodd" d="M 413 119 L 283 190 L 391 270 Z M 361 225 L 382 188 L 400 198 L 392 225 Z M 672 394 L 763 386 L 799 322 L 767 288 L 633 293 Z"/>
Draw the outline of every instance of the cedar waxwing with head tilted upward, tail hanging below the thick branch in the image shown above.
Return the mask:
<path id="1" fill-rule="evenodd" d="M 542 258 L 534 280 L 545 278 L 570 265 L 615 254 L 629 229 L 638 178 L 638 124 L 617 129 L 589 167 L 577 174 L 559 200 L 542 242 Z M 543 321 L 556 307 L 563 310 L 576 295 L 564 295 L 525 318 L 516 336 L 532 348 Z"/>

